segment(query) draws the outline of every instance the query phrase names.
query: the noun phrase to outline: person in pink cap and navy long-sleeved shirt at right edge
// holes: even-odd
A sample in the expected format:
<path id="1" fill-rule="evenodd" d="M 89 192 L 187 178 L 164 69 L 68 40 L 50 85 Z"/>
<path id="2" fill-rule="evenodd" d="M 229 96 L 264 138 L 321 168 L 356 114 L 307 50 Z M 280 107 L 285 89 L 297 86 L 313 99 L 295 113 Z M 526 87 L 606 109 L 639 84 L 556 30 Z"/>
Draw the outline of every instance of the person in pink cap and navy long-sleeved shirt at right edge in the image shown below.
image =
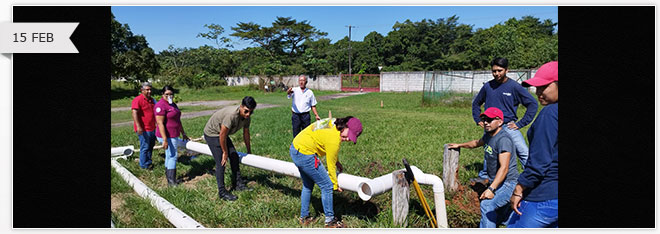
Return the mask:
<path id="1" fill-rule="evenodd" d="M 558 227 L 559 221 L 559 63 L 543 64 L 523 86 L 535 86 L 545 106 L 527 131 L 529 161 L 511 195 L 510 228 Z"/>

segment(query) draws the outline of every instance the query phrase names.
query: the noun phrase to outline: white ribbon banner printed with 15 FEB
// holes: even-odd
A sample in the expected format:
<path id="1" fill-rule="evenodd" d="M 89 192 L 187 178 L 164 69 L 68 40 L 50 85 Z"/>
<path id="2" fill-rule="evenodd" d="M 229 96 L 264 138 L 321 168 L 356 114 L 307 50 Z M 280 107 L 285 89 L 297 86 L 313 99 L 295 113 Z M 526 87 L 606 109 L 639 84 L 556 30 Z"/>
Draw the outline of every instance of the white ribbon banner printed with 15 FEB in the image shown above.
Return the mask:
<path id="1" fill-rule="evenodd" d="M 0 53 L 78 53 L 71 34 L 79 23 L 0 23 Z"/>

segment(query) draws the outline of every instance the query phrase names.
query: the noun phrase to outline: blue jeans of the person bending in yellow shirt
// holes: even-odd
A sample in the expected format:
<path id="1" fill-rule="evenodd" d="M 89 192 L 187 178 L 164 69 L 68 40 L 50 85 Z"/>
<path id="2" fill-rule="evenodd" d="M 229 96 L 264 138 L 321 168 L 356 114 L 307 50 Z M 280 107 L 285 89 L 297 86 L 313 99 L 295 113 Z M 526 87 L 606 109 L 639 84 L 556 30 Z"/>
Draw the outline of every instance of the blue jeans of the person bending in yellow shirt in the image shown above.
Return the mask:
<path id="1" fill-rule="evenodd" d="M 296 164 L 300 171 L 300 178 L 303 181 L 303 188 L 300 193 L 300 217 L 309 215 L 309 200 L 312 197 L 314 184 L 321 188 L 321 203 L 323 203 L 323 213 L 325 213 L 325 222 L 328 223 L 334 218 L 335 212 L 332 208 L 332 181 L 325 170 L 323 163 L 319 162 L 318 167 L 314 168 L 314 155 L 306 155 L 296 150 L 293 145 L 289 147 L 289 155 L 293 164 Z"/>

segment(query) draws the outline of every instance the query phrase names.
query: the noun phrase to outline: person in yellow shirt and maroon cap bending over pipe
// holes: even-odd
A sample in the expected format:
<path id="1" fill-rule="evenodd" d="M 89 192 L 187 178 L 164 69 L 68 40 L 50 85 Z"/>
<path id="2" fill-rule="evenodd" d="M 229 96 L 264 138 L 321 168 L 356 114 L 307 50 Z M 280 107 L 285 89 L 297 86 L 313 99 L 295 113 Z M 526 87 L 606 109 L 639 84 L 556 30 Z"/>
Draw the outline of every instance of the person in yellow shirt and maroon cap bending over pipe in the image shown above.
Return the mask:
<path id="1" fill-rule="evenodd" d="M 341 172 L 337 153 L 342 141 L 357 143 L 357 137 L 362 134 L 362 123 L 358 118 L 326 118 L 314 122 L 303 129 L 294 139 L 289 154 L 293 163 L 300 171 L 303 187 L 300 195 L 300 224 L 307 225 L 314 218 L 309 215 L 309 200 L 314 184 L 321 188 L 321 203 L 325 213 L 325 227 L 343 228 L 345 225 L 334 215 L 332 207 L 332 191 L 342 191 L 337 183 L 337 169 Z M 328 170 L 318 159 L 325 156 Z"/>

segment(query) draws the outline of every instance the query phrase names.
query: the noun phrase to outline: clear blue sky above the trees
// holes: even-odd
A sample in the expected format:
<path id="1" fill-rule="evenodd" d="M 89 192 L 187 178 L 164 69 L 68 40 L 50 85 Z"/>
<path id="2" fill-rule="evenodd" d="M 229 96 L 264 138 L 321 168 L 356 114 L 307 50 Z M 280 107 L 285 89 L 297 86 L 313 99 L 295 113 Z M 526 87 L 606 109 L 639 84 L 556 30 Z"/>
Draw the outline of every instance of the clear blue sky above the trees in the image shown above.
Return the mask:
<path id="1" fill-rule="evenodd" d="M 556 6 L 113 6 L 115 19 L 128 24 L 133 34 L 144 35 L 156 53 L 175 48 L 197 48 L 215 43 L 197 34 L 208 32 L 204 24 L 219 24 L 222 34 L 232 40 L 233 49 L 241 50 L 256 46 L 248 41 L 229 36 L 231 27 L 239 22 L 254 22 L 270 27 L 278 16 L 307 20 L 316 29 L 327 32 L 332 43 L 348 36 L 362 41 L 370 32 L 383 36 L 392 31 L 398 22 L 410 19 L 437 20 L 459 17 L 459 24 L 472 25 L 473 29 L 489 28 L 516 17 L 531 15 L 558 22 Z"/>

